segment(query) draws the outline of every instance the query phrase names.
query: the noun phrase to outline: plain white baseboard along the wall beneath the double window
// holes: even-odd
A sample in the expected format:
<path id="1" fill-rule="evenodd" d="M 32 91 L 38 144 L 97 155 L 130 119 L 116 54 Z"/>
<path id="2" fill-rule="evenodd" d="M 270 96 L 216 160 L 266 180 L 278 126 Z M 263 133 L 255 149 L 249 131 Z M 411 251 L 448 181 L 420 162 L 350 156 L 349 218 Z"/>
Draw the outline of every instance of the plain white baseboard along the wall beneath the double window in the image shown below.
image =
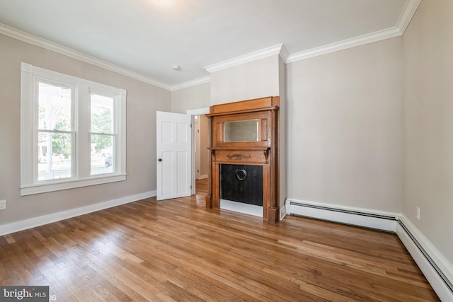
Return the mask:
<path id="1" fill-rule="evenodd" d="M 21 221 L 16 221 L 12 223 L 7 223 L 0 226 L 0 236 L 6 234 L 16 233 L 18 231 L 23 231 L 28 228 L 35 228 L 36 226 L 43 226 L 47 223 L 52 223 L 56 221 L 61 221 L 64 219 L 69 219 L 75 216 L 80 216 L 84 214 L 91 213 L 93 211 L 99 211 L 102 209 L 108 209 L 111 207 L 119 206 L 120 204 L 127 204 L 130 202 L 136 202 L 140 199 L 145 199 L 149 197 L 156 196 L 156 191 L 145 192 L 141 194 L 135 194 L 131 196 L 121 197 L 118 199 L 108 200 L 107 202 L 100 202 L 98 204 L 91 204 L 86 207 L 80 207 L 76 209 L 70 209 L 67 211 L 60 211 L 57 213 L 52 213 L 48 215 L 33 217 L 30 219 L 24 219 Z"/>

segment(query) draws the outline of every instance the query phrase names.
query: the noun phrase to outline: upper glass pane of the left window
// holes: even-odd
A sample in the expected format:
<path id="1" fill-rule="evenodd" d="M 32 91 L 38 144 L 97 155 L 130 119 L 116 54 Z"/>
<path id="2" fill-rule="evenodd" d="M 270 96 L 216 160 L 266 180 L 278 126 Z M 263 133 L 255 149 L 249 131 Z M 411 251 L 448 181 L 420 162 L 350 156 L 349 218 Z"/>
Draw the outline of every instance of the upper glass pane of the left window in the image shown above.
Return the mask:
<path id="1" fill-rule="evenodd" d="M 38 85 L 38 129 L 71 131 L 71 89 Z"/>

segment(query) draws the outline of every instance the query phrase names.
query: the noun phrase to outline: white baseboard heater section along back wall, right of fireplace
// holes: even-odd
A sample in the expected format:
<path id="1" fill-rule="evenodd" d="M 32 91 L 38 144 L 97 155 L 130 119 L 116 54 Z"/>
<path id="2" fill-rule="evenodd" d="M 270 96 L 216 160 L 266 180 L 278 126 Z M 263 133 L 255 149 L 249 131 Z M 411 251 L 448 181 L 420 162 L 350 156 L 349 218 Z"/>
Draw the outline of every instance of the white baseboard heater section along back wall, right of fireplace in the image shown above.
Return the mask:
<path id="1" fill-rule="evenodd" d="M 287 199 L 287 214 L 394 232 L 399 213 Z"/>

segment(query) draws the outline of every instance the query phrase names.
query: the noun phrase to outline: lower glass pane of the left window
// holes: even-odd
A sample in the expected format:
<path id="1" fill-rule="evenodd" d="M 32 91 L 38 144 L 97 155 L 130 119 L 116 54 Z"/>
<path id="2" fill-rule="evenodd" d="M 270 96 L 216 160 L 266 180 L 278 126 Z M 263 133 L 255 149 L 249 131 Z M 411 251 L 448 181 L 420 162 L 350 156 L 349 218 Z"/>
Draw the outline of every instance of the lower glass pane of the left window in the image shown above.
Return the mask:
<path id="1" fill-rule="evenodd" d="M 38 180 L 71 177 L 72 134 L 38 132 Z"/>

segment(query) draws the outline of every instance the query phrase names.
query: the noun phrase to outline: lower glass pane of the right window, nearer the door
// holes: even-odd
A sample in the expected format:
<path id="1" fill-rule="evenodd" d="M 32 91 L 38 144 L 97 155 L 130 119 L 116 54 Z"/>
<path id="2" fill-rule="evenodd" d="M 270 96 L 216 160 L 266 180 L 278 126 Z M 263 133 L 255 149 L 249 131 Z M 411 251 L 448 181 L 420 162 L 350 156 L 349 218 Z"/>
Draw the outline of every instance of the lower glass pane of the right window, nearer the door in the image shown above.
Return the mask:
<path id="1" fill-rule="evenodd" d="M 113 173 L 113 137 L 91 134 L 91 175 Z"/>

